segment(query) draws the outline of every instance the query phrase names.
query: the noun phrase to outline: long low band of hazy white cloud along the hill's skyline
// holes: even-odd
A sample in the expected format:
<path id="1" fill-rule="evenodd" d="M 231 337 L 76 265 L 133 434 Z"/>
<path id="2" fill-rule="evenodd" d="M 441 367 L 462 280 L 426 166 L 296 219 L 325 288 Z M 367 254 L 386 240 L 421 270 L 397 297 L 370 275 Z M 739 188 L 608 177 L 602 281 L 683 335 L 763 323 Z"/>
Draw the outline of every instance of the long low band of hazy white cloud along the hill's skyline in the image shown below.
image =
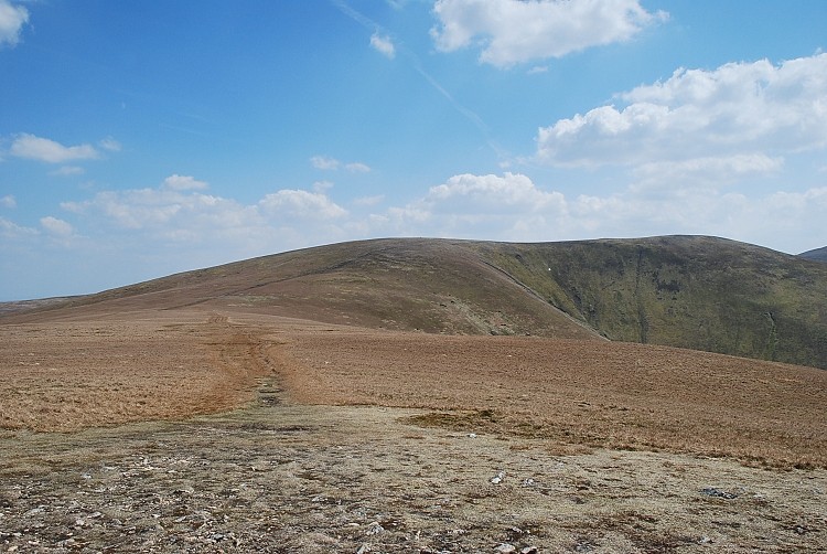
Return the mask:
<path id="1" fill-rule="evenodd" d="M 698 162 L 700 169 L 687 164 L 680 171 L 690 174 L 719 164 L 738 172 L 753 162 L 774 163 L 772 159 L 707 160 Z M 0 259 L 39 252 L 32 247 L 39 243 L 63 244 L 71 256 L 64 265 L 73 259 L 86 260 L 85 266 L 88 259 L 117 260 L 120 283 L 111 283 L 115 286 L 233 259 L 389 235 L 534 242 L 711 234 L 797 253 L 819 246 L 827 213 L 824 185 L 749 198 L 696 188 L 654 194 L 630 188 L 578 195 L 546 189 L 518 173 L 453 175 L 409 204 L 378 207 L 384 200 L 352 202 L 377 206 L 365 214 L 364 209 L 346 211 L 324 190 L 280 190 L 251 204 L 163 184 L 105 191 L 62 204 L 74 214 L 72 225 L 50 215 L 36 228 L 29 228 L 0 217 L 0 251 L 6 254 Z M 55 259 L 40 256 L 28 267 L 50 264 L 56 264 Z M 77 280 L 78 275 L 75 271 L 67 278 Z M 78 291 L 101 286 L 77 283 Z"/>

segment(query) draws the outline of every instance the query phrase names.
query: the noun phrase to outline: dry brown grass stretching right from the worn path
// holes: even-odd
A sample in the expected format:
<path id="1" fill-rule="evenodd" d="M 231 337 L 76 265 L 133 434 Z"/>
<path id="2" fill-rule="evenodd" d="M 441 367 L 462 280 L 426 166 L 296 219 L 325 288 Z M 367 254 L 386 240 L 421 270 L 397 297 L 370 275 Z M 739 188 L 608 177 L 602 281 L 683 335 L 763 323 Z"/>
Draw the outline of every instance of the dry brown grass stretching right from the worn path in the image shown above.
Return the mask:
<path id="1" fill-rule="evenodd" d="M 353 331 L 297 335 L 291 355 L 301 402 L 451 411 L 420 420 L 558 444 L 827 467 L 820 370 L 630 343 Z"/>

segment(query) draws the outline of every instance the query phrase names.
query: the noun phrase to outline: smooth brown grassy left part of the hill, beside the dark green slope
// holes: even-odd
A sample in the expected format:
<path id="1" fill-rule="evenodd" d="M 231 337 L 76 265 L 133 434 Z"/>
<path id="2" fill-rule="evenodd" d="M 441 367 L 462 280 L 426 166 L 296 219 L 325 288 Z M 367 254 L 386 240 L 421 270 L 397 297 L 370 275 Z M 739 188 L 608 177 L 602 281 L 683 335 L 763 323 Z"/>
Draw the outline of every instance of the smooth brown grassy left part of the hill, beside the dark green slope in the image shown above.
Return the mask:
<path id="1" fill-rule="evenodd" d="M 200 306 L 430 333 L 602 340 L 469 244 L 379 239 L 307 248 L 76 297 L 15 319 Z"/>

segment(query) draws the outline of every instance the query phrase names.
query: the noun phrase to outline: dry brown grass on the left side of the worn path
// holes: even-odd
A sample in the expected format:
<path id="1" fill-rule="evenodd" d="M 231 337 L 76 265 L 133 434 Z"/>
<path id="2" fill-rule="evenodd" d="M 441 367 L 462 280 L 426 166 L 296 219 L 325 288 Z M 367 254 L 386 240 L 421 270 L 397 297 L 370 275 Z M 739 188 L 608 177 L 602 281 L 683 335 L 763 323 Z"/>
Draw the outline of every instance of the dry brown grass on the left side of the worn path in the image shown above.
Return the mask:
<path id="1" fill-rule="evenodd" d="M 232 409 L 261 344 L 224 319 L 1 326 L 0 428 L 75 430 Z"/>

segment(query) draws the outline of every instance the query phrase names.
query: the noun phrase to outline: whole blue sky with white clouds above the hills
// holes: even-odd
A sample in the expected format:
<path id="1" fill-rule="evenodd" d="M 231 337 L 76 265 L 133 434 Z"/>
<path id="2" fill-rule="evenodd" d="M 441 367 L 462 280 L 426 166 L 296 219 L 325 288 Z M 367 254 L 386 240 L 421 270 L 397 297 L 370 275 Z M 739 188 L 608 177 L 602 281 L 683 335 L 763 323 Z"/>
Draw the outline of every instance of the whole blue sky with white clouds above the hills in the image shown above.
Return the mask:
<path id="1" fill-rule="evenodd" d="M 351 239 L 827 245 L 827 2 L 0 0 L 0 301 Z"/>

